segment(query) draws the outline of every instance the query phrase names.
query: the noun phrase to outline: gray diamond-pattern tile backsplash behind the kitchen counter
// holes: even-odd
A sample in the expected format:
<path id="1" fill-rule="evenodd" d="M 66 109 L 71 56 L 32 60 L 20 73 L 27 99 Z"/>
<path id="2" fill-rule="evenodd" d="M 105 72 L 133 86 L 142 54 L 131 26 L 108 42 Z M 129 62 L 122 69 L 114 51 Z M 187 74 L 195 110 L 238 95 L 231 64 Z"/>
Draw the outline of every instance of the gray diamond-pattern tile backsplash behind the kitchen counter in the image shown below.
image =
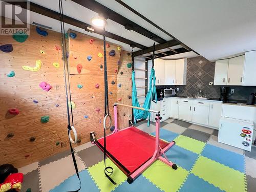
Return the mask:
<path id="1" fill-rule="evenodd" d="M 200 89 L 202 94 L 210 98 L 220 97 L 220 87 L 209 85 L 214 82 L 215 62 L 210 62 L 202 56 L 187 58 L 187 79 L 185 86 L 156 86 L 157 89 L 179 88 L 177 95 L 197 95 Z M 234 93 L 228 96 L 229 99 L 247 100 L 248 96 L 256 92 L 256 86 L 229 86 Z"/>

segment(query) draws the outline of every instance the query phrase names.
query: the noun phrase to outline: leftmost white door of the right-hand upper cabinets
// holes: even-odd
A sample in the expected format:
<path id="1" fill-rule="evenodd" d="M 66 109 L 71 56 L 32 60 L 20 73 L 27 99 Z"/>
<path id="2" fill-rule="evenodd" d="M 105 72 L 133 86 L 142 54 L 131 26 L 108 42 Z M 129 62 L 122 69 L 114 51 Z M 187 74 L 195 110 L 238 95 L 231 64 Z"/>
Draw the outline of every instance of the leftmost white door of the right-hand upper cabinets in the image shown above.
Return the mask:
<path id="1" fill-rule="evenodd" d="M 229 59 L 217 60 L 215 62 L 215 86 L 225 86 L 227 84 L 228 62 Z"/>

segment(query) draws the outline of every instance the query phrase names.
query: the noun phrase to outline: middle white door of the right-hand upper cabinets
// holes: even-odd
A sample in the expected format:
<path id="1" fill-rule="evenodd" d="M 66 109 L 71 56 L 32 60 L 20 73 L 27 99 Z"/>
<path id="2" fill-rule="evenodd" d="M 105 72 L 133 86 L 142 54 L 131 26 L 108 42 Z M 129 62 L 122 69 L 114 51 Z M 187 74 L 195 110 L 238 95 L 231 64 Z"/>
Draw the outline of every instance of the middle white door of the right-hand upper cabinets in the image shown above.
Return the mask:
<path id="1" fill-rule="evenodd" d="M 241 86 L 243 81 L 244 55 L 229 59 L 227 84 Z"/>

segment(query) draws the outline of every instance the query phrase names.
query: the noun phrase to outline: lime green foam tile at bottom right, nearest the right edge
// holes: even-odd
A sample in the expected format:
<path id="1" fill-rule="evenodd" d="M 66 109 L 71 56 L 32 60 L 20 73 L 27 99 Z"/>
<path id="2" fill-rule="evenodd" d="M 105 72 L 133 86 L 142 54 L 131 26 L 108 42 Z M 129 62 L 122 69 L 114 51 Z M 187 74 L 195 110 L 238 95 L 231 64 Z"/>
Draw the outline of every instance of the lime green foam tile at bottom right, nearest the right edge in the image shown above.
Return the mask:
<path id="1" fill-rule="evenodd" d="M 200 156 L 191 173 L 225 191 L 246 191 L 245 174 Z"/>

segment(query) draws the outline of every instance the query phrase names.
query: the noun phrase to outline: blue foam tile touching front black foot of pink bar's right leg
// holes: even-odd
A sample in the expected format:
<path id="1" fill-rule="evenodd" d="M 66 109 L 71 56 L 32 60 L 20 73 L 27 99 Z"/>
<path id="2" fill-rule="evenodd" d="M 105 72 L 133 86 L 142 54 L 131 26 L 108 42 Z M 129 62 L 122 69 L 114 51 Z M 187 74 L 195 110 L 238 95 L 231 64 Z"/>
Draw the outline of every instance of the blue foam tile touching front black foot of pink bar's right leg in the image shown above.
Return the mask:
<path id="1" fill-rule="evenodd" d="M 166 157 L 176 163 L 179 166 L 182 166 L 186 170 L 190 170 L 197 160 L 198 154 L 185 150 L 182 147 L 174 145 L 166 153 Z"/>

